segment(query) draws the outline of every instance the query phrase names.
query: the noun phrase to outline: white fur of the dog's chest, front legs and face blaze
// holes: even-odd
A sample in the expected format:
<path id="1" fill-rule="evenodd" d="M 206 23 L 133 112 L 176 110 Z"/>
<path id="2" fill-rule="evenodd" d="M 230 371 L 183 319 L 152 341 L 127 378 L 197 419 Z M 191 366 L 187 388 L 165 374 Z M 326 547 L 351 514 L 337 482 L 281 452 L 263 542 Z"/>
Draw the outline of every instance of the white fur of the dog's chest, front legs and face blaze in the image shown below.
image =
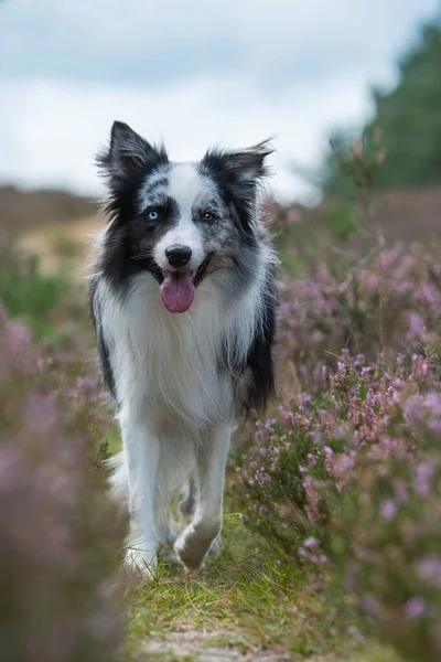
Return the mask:
<path id="1" fill-rule="evenodd" d="M 190 205 L 193 174 L 186 173 Z M 186 232 L 191 223 L 185 192 L 184 188 L 180 195 L 184 220 L 179 232 Z M 175 190 L 174 196 L 179 193 Z M 186 245 L 189 241 L 190 235 Z M 165 310 L 159 285 L 148 273 L 135 279 L 123 301 L 99 281 L 101 323 L 121 403 L 123 452 L 112 460 L 112 491 L 130 510 L 127 560 L 141 568 L 154 572 L 158 545 L 171 538 L 171 495 L 190 476 L 197 479 L 197 505 L 175 552 L 186 567 L 197 569 L 218 535 L 234 425 L 230 380 L 217 371 L 219 345 L 226 339 L 232 364 L 247 356 L 260 322 L 266 266 L 272 260 L 262 245 L 254 284 L 228 305 L 216 284 L 222 276 L 213 274 L 202 281 L 184 314 Z"/>

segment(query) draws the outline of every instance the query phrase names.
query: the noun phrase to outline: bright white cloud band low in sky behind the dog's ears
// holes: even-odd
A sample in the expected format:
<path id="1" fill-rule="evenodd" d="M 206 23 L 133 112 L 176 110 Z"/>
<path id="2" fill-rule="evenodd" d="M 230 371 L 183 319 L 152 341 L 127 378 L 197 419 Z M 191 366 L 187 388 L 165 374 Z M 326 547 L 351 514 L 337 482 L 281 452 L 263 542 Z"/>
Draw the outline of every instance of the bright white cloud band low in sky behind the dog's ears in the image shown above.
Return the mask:
<path id="1" fill-rule="evenodd" d="M 325 127 L 356 121 L 365 108 L 363 86 L 351 79 L 291 88 L 277 100 L 229 77 L 122 94 L 14 83 L 3 85 L 2 98 L 0 122 L 8 140 L 1 147 L 0 179 L 96 193 L 94 153 L 107 141 L 114 119 L 122 119 L 150 140 L 164 139 L 175 160 L 201 158 L 209 145 L 243 147 L 277 134 L 271 186 L 283 200 L 309 192 L 290 174 L 290 160 L 319 164 Z"/>

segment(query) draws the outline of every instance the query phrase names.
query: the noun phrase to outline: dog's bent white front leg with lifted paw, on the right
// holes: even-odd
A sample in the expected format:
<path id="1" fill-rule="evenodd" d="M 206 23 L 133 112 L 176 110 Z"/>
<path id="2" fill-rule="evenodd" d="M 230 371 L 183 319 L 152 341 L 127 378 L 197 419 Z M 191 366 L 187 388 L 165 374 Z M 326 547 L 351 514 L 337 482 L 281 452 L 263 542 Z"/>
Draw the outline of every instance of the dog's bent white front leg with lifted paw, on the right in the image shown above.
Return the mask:
<path id="1" fill-rule="evenodd" d="M 213 541 L 222 528 L 225 468 L 232 425 L 213 430 L 212 437 L 198 451 L 197 491 L 192 522 L 178 538 L 174 549 L 191 570 L 198 570 Z"/>

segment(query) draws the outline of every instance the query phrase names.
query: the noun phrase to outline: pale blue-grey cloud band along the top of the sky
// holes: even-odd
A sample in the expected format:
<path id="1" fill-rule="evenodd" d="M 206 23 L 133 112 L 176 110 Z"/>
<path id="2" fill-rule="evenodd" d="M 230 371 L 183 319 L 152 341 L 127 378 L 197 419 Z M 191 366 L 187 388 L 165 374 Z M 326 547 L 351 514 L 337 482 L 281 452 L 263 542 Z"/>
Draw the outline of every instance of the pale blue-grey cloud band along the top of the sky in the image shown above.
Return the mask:
<path id="1" fill-rule="evenodd" d="M 437 0 L 13 0 L 1 9 L 3 75 L 161 86 L 183 75 L 375 74 Z"/>

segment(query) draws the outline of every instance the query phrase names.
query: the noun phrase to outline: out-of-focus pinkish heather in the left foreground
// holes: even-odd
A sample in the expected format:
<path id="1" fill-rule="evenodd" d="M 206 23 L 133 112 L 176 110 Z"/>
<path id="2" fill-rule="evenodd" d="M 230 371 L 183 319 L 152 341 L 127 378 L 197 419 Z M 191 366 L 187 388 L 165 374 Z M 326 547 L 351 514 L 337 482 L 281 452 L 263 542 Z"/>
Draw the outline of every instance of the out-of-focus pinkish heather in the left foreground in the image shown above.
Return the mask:
<path id="1" fill-rule="evenodd" d="M 0 659 L 109 662 L 123 525 L 97 470 L 100 394 L 0 319 Z M 94 424 L 95 421 L 95 424 Z"/>

